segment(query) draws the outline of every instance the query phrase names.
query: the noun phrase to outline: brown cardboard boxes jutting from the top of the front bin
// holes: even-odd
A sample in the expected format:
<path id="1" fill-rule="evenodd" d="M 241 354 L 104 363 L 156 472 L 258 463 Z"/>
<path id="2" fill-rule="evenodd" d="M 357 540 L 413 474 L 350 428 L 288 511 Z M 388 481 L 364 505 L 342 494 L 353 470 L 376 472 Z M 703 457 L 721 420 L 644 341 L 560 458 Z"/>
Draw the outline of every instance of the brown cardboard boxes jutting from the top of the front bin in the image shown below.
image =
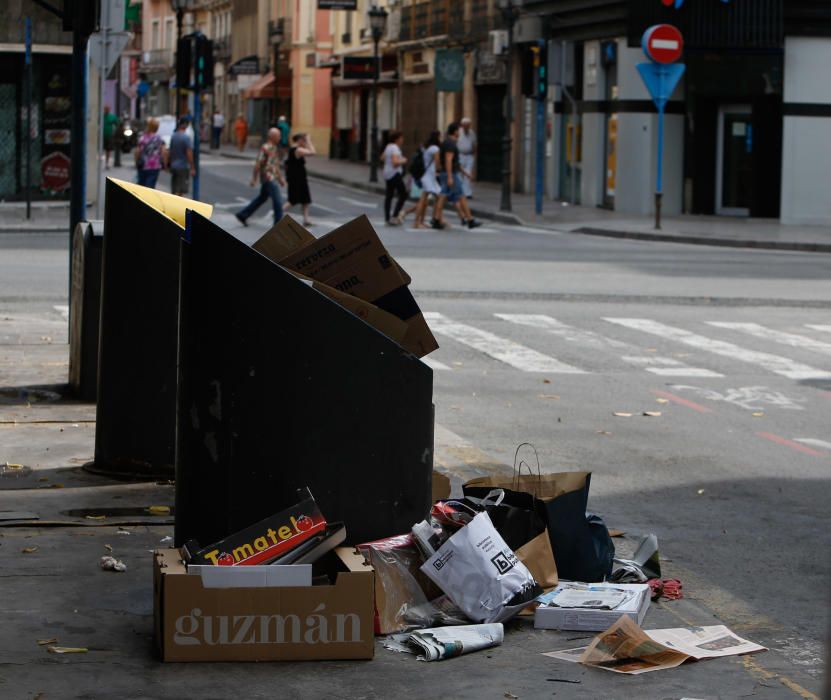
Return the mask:
<path id="1" fill-rule="evenodd" d="M 253 248 L 282 267 L 313 279 L 315 289 L 417 357 L 438 348 L 407 288 L 410 276 L 389 254 L 366 216 L 359 216 L 320 238 L 315 238 L 290 216 L 284 216 Z M 350 305 L 342 295 L 365 304 Z M 378 309 L 378 313 L 370 313 L 366 304 Z M 362 313 L 357 313 L 356 308 Z M 390 322 L 390 316 L 405 324 L 403 332 Z"/>

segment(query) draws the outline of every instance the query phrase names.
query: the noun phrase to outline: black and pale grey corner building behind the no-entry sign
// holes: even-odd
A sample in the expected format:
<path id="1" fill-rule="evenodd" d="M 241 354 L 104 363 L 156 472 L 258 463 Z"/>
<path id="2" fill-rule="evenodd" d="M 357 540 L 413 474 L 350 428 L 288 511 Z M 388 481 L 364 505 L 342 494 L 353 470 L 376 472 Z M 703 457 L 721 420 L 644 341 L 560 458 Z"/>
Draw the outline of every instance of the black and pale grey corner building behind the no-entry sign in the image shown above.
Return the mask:
<path id="1" fill-rule="evenodd" d="M 652 213 L 657 116 L 637 64 L 643 32 L 668 23 L 686 70 L 667 105 L 664 211 L 831 224 L 828 3 L 526 0 L 522 11 L 566 59 L 547 105 L 551 196 Z"/>

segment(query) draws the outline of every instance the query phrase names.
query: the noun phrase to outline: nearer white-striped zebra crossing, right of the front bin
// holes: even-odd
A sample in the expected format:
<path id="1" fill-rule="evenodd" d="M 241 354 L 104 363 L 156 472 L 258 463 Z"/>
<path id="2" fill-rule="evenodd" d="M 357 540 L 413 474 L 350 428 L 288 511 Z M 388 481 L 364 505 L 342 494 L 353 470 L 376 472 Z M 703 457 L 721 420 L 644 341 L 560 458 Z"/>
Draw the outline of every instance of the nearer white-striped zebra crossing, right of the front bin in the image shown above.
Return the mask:
<path id="1" fill-rule="evenodd" d="M 438 371 L 495 361 L 521 372 L 586 375 L 620 363 L 672 378 L 724 377 L 727 366 L 731 373 L 755 369 L 794 380 L 831 380 L 831 343 L 815 337 L 831 329 L 825 324 L 802 324 L 796 333 L 792 326 L 783 330 L 743 321 L 670 325 L 651 318 L 600 316 L 565 323 L 546 314 L 500 312 L 470 323 L 435 311 L 424 316 L 441 345 L 424 361 Z M 688 325 L 695 328 L 682 327 Z M 729 339 L 719 337 L 725 334 Z M 656 339 L 664 352 L 650 347 Z M 454 362 L 454 355 L 468 360 Z"/>

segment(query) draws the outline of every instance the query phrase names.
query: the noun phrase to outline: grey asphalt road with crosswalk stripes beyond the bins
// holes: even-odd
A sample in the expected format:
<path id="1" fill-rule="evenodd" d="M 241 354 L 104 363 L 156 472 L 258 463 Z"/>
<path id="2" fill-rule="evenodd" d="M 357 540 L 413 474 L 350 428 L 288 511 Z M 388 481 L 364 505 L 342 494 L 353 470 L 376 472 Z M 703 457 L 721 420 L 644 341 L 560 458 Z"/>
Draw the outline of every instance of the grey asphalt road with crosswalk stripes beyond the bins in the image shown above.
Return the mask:
<path id="1" fill-rule="evenodd" d="M 253 242 L 271 212 L 233 218 L 255 194 L 250 170 L 203 159 L 202 198 Z M 442 435 L 508 464 L 527 441 L 545 471 L 593 471 L 593 510 L 655 532 L 689 596 L 819 678 L 831 257 L 491 222 L 389 228 L 365 192 L 313 181 L 312 196 L 315 233 L 366 213 L 412 276 L 441 345 L 425 361 Z M 64 236 L 2 235 L 0 251 L 2 308 L 66 303 Z"/>

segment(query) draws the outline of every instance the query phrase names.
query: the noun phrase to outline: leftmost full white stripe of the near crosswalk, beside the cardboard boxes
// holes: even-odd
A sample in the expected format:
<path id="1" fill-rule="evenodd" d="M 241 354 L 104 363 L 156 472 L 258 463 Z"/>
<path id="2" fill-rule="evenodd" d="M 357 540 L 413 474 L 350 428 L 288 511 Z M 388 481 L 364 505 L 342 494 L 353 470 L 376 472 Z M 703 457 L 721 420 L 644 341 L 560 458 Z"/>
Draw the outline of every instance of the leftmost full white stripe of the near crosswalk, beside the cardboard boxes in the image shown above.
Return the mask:
<path id="1" fill-rule="evenodd" d="M 456 323 L 443 314 L 428 311 L 424 314 L 424 318 L 427 319 L 431 330 L 435 333 L 452 338 L 456 342 L 467 345 L 523 372 L 586 374 L 582 369 L 567 365 L 512 340 L 500 338 L 498 335 L 473 326 Z"/>

